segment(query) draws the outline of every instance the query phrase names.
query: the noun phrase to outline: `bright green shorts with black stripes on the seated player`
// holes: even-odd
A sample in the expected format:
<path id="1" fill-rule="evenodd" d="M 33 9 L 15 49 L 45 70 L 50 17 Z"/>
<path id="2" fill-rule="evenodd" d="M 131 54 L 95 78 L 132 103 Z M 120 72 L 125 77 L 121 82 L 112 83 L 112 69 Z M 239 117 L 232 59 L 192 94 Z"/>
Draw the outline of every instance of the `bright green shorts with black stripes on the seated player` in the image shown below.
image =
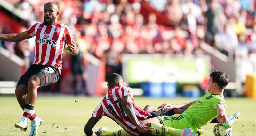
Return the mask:
<path id="1" fill-rule="evenodd" d="M 188 121 L 181 114 L 174 114 L 172 116 L 157 116 L 160 120 L 161 124 L 176 128 L 176 129 L 184 129 L 190 128 Z"/>

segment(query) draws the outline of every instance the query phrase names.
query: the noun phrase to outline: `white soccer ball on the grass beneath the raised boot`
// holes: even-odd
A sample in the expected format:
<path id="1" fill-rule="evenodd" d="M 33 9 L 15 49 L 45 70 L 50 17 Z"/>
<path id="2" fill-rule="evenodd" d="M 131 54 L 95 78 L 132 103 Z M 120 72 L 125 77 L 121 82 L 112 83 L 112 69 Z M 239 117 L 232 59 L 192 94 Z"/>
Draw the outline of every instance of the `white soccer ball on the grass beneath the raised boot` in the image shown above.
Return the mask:
<path id="1" fill-rule="evenodd" d="M 214 136 L 231 136 L 232 128 L 225 128 L 223 125 L 217 123 L 213 127 Z"/>

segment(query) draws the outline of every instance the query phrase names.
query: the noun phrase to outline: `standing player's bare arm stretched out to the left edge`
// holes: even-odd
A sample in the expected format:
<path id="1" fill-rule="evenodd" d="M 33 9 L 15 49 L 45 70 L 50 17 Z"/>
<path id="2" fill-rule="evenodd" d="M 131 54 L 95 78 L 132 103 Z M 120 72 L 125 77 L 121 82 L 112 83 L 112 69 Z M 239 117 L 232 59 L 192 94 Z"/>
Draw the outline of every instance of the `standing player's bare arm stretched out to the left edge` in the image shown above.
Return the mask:
<path id="1" fill-rule="evenodd" d="M 20 42 L 25 39 L 29 39 L 30 36 L 27 32 L 22 32 L 20 34 L 10 33 L 10 34 L 0 34 L 0 40 L 11 41 L 11 42 Z"/>

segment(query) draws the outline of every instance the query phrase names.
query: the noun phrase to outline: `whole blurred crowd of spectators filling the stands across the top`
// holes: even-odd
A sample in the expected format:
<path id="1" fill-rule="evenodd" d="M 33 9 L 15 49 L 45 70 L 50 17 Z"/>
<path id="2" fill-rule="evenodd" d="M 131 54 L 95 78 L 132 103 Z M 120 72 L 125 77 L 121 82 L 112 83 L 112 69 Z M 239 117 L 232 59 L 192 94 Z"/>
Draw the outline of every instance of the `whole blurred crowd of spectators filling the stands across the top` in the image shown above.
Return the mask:
<path id="1" fill-rule="evenodd" d="M 222 53 L 256 60 L 255 0 L 63 0 L 59 20 L 71 27 L 82 52 L 106 60 L 106 72 L 121 71 L 121 55 L 204 54 L 206 42 Z M 15 7 L 29 17 L 29 25 L 43 20 L 44 3 L 21 0 Z M 145 18 L 141 3 L 148 3 L 174 25 Z M 147 21 L 146 21 L 147 20 Z M 24 31 L 25 28 L 21 30 Z M 32 56 L 34 41 L 4 42 L 21 58 Z M 33 61 L 33 60 L 32 60 Z"/>

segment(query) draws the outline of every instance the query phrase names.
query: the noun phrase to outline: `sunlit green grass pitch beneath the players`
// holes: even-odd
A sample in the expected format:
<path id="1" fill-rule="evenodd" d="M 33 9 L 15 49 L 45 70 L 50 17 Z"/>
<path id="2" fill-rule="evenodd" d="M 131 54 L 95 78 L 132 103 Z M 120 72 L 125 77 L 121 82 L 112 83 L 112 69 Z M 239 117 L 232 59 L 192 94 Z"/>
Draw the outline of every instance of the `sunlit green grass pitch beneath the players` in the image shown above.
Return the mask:
<path id="1" fill-rule="evenodd" d="M 65 97 L 65 96 L 38 96 L 35 106 L 36 114 L 44 120 L 40 126 L 38 135 L 41 136 L 82 136 L 84 125 L 92 116 L 92 111 L 99 105 L 103 97 Z M 149 98 L 134 97 L 135 102 L 141 108 L 151 104 L 155 107 L 163 103 L 179 104 L 190 102 L 190 98 Z M 77 102 L 75 102 L 75 100 Z M 256 100 L 248 98 L 225 98 L 227 114 L 240 112 L 240 118 L 233 124 L 232 136 L 256 136 Z M 23 114 L 15 96 L 0 96 L 0 135 L 1 136 L 25 136 L 27 132 L 14 127 Z M 29 122 L 30 124 L 30 122 Z M 103 117 L 95 125 L 93 131 L 100 127 L 108 130 L 121 129 L 108 117 Z M 213 135 L 214 124 L 208 124 L 203 129 L 205 136 Z"/>

